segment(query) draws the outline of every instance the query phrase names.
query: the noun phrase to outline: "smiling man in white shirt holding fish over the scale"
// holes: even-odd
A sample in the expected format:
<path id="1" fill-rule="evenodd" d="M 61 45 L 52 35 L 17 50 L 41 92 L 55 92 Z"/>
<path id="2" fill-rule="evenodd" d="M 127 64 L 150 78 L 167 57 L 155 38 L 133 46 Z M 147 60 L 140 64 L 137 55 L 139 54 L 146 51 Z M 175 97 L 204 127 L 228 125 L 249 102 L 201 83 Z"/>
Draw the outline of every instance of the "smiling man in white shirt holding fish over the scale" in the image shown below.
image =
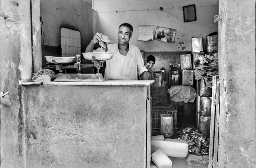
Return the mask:
<path id="1" fill-rule="evenodd" d="M 106 79 L 133 80 L 148 79 L 147 68 L 144 66 L 140 49 L 135 45 L 129 44 L 132 37 L 133 28 L 129 23 L 119 26 L 117 33 L 118 43 L 108 44 L 108 52 L 113 52 L 114 56 L 106 60 L 105 76 Z M 85 52 L 92 52 L 96 43 L 100 42 L 100 33 L 96 33 Z M 103 48 L 98 48 L 94 52 L 104 52 Z"/>

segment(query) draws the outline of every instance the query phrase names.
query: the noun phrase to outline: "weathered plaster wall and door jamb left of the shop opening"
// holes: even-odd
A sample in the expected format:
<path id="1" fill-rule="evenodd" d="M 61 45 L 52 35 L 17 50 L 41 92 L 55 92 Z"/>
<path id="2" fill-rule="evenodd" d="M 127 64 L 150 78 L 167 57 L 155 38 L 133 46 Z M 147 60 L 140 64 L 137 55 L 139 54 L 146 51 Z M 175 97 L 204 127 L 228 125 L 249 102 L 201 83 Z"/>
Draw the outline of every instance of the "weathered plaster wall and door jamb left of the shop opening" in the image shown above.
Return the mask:
<path id="1" fill-rule="evenodd" d="M 32 9 L 39 10 L 39 1 L 32 1 Z M 19 99 L 19 83 L 28 82 L 32 77 L 32 49 L 30 1 L 1 1 L 0 3 L 0 56 L 1 80 L 9 91 L 12 106 L 1 106 L 1 140 L 4 161 L 1 167 L 25 167 L 25 143 L 23 111 L 19 110 L 22 102 Z M 32 24 L 37 24 L 36 17 Z M 36 36 L 36 25 L 33 25 Z M 38 38 L 38 37 L 36 37 Z M 34 52 L 40 51 L 41 43 L 35 40 Z M 35 69 L 39 68 L 41 58 L 38 54 L 34 61 Z"/>

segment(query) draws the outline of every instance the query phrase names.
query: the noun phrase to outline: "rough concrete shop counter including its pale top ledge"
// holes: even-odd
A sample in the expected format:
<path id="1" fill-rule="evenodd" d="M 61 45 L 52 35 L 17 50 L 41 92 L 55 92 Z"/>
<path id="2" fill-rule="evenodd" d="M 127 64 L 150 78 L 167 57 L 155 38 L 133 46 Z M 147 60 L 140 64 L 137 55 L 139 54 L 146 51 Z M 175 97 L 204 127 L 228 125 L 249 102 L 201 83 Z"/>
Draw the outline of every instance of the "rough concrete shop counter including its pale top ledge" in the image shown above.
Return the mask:
<path id="1" fill-rule="evenodd" d="M 153 82 L 22 84 L 26 167 L 150 167 Z"/>

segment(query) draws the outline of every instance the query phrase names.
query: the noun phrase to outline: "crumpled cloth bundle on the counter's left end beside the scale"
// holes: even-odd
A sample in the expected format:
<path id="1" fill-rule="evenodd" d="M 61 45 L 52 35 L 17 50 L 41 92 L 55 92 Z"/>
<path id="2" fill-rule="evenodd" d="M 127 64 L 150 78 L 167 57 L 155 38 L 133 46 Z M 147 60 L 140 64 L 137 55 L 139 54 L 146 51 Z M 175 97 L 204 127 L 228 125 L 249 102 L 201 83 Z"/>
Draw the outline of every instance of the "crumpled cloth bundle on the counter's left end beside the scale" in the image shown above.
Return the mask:
<path id="1" fill-rule="evenodd" d="M 51 82 L 51 80 L 56 79 L 56 75 L 51 69 L 40 69 L 38 73 L 33 75 L 33 82 Z"/>

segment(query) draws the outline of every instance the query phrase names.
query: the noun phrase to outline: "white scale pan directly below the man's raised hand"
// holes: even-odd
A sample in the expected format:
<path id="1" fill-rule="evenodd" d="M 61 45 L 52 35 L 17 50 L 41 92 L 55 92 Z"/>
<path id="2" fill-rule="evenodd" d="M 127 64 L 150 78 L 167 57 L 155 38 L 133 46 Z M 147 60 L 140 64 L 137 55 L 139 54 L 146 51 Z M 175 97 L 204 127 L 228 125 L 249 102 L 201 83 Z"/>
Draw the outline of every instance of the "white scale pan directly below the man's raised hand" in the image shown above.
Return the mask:
<path id="1" fill-rule="evenodd" d="M 113 57 L 113 52 L 84 52 L 84 59 L 91 61 L 104 61 Z"/>

